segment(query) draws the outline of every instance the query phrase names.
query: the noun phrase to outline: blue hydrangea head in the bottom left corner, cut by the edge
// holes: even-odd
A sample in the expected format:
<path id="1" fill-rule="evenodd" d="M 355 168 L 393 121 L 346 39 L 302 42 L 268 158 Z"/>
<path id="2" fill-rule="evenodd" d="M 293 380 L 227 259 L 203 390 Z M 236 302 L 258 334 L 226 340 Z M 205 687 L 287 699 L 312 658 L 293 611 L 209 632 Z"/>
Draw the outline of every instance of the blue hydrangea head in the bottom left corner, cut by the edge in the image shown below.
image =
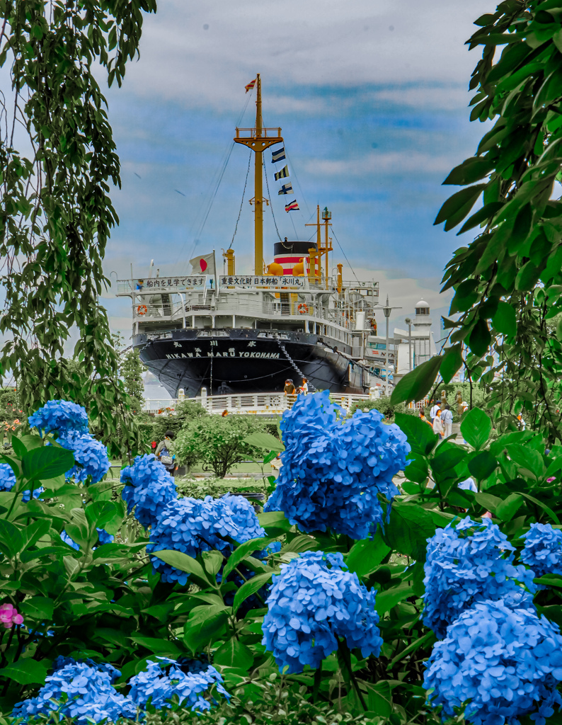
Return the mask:
<path id="1" fill-rule="evenodd" d="M 15 705 L 13 717 L 23 718 L 27 722 L 29 718 L 38 716 L 48 718 L 49 713 L 57 709 L 61 717 L 70 718 L 77 725 L 89 725 L 92 721 L 99 723 L 102 720 L 115 722 L 122 717 L 136 718 L 136 707 L 131 699 L 120 695 L 113 687 L 115 673 L 119 676 L 115 668 L 109 666 L 111 671 L 108 671 L 91 660 L 70 660 L 59 664 L 62 667 L 59 666 L 53 674 L 47 676 L 36 697 Z M 62 703 L 64 695 L 67 700 Z M 59 707 L 56 708 L 51 700 L 59 703 Z"/>

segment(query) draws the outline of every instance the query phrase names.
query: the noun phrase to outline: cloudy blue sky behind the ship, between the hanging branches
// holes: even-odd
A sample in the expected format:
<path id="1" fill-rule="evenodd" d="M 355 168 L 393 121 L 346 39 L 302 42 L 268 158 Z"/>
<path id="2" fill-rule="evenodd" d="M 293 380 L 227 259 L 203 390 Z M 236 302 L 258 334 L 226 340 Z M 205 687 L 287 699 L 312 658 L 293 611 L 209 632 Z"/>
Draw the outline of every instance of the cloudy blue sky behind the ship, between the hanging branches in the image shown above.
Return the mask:
<path id="1" fill-rule="evenodd" d="M 344 278 L 378 280 L 400 326 L 425 299 L 439 339 L 442 271 L 458 239 L 433 226 L 456 189 L 449 171 L 474 154 L 485 128 L 469 123 L 468 52 L 489 0 L 160 0 L 145 16 L 140 57 L 107 91 L 122 165 L 112 192 L 120 225 L 104 268 L 112 279 L 188 270 L 194 254 L 233 239 L 236 270 L 252 270 L 252 170 L 234 129 L 252 126 L 260 72 L 263 120 L 281 126 L 299 212 L 284 211 L 270 156 L 264 257 L 277 239 L 308 239 L 316 204 L 332 212 L 334 255 Z M 100 80 L 102 80 L 100 78 Z M 233 147 L 234 146 L 234 147 Z M 221 175 L 228 157 L 226 169 Z M 252 159 L 253 161 L 253 159 Z M 220 177 L 220 184 L 218 180 Z M 347 258 L 347 259 L 346 259 Z M 131 304 L 109 291 L 110 323 L 131 336 Z"/>

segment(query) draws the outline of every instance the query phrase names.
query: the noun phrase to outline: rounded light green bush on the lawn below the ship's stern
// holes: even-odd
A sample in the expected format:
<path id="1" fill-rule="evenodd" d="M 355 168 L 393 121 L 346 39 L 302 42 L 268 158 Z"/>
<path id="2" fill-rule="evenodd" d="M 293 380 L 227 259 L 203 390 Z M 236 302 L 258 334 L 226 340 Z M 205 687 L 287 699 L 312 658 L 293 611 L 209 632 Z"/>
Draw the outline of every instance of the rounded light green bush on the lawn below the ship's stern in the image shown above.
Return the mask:
<path id="1" fill-rule="evenodd" d="M 249 415 L 205 415 L 182 428 L 173 444 L 179 463 L 202 463 L 223 479 L 236 463 L 263 455 L 263 450 L 244 443 L 252 433 L 265 432 L 264 421 Z"/>

